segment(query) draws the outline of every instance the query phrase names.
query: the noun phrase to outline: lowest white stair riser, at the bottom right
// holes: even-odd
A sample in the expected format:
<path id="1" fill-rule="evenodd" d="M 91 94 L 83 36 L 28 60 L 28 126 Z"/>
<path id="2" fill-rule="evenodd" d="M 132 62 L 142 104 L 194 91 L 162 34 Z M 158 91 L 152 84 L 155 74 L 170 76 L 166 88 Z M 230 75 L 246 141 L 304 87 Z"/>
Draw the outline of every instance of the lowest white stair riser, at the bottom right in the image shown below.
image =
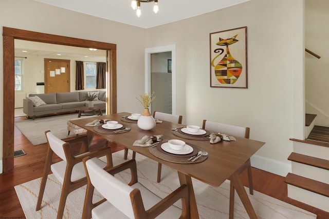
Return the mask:
<path id="1" fill-rule="evenodd" d="M 319 195 L 308 190 L 301 189 L 296 186 L 288 186 L 288 197 L 293 198 L 299 202 L 307 205 L 319 208 L 321 210 L 329 212 L 329 197 Z"/>

